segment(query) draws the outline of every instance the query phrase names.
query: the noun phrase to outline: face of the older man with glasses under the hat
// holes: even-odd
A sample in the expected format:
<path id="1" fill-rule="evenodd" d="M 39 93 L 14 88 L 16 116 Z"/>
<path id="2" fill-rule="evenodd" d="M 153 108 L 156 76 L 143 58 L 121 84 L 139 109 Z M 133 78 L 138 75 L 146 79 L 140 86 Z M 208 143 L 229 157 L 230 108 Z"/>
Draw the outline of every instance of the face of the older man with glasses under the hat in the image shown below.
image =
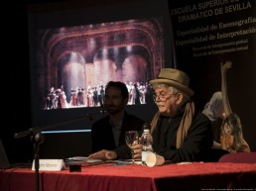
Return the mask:
<path id="1" fill-rule="evenodd" d="M 173 116 L 178 109 L 179 94 L 174 94 L 168 87 L 155 87 L 155 103 L 164 116 Z"/>

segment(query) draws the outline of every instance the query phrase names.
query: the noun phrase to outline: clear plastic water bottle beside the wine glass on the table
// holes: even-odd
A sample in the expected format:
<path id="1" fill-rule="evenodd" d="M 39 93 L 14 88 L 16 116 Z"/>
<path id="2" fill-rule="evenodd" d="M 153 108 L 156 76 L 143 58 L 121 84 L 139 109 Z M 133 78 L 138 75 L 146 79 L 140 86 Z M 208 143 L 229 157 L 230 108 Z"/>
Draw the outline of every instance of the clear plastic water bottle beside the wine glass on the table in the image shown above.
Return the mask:
<path id="1" fill-rule="evenodd" d="M 153 138 L 150 134 L 149 129 L 144 129 L 144 132 L 141 137 L 141 144 L 142 144 L 142 152 L 141 152 L 141 161 L 142 165 L 146 164 L 146 157 L 147 155 L 153 151 L 152 148 Z"/>

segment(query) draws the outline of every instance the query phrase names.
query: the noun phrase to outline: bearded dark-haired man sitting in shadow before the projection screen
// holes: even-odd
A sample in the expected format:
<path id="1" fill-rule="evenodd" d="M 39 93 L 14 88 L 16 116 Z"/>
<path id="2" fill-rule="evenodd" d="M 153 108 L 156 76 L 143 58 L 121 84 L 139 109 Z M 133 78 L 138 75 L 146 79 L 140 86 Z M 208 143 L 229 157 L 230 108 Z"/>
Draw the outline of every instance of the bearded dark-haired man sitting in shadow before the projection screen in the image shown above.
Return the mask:
<path id="1" fill-rule="evenodd" d="M 135 130 L 141 133 L 145 122 L 126 112 L 128 98 L 129 93 L 125 83 L 120 81 L 107 83 L 104 107 L 108 115 L 92 124 L 91 152 L 102 149 L 122 152 L 129 149 L 125 143 L 125 132 Z"/>

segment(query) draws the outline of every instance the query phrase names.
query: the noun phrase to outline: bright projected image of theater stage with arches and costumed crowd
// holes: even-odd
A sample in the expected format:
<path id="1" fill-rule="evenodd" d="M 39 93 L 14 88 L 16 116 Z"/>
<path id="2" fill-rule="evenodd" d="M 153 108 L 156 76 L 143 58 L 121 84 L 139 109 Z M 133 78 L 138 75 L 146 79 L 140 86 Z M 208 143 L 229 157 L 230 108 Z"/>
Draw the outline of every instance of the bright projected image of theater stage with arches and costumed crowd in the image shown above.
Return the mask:
<path id="1" fill-rule="evenodd" d="M 148 81 L 164 63 L 161 16 L 41 29 L 36 39 L 43 110 L 102 106 L 109 80 L 127 84 L 130 105 L 138 96 L 146 104 Z"/>

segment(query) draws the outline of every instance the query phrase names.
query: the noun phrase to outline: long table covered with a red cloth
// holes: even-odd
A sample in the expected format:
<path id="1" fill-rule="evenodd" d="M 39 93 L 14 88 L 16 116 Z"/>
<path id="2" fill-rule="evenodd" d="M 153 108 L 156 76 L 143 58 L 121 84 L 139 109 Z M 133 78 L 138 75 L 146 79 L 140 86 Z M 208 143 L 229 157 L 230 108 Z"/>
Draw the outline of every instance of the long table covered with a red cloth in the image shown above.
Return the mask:
<path id="1" fill-rule="evenodd" d="M 40 171 L 41 191 L 256 190 L 256 163 L 194 162 L 142 166 L 105 163 L 81 172 Z M 0 191 L 35 191 L 35 172 L 0 172 Z"/>

